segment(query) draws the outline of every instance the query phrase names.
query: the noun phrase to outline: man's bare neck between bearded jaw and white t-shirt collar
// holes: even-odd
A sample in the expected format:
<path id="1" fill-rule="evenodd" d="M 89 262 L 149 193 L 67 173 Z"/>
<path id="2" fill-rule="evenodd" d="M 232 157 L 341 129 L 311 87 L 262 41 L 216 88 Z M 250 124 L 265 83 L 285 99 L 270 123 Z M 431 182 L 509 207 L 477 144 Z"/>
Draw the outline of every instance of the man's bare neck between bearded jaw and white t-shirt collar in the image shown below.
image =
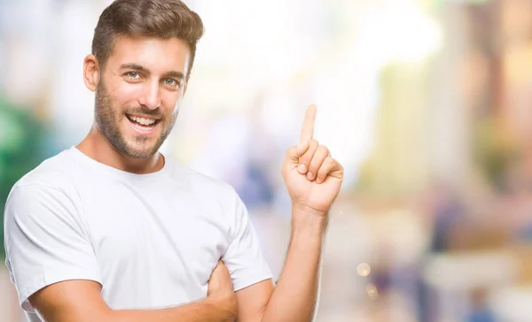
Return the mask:
<path id="1" fill-rule="evenodd" d="M 164 157 L 160 152 L 157 152 L 152 157 L 148 158 L 123 155 L 117 149 L 114 149 L 113 145 L 111 145 L 106 137 L 99 131 L 98 126 L 95 125 L 90 128 L 89 134 L 87 134 L 76 148 L 99 163 L 112 166 L 113 168 L 128 173 L 155 173 L 160 171 L 164 166 Z"/>

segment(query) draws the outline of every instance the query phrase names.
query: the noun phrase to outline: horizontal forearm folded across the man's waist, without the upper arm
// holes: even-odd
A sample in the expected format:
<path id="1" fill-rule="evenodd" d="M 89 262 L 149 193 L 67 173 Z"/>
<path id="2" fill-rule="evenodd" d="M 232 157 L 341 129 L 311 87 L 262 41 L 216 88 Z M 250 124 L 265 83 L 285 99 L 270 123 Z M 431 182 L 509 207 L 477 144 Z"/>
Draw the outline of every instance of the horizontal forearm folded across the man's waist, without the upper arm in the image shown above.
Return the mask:
<path id="1" fill-rule="evenodd" d="M 236 312 L 231 311 L 231 305 L 225 304 L 228 301 L 236 300 L 207 297 L 201 301 L 168 309 L 111 311 L 107 320 L 109 322 L 232 322 Z"/>

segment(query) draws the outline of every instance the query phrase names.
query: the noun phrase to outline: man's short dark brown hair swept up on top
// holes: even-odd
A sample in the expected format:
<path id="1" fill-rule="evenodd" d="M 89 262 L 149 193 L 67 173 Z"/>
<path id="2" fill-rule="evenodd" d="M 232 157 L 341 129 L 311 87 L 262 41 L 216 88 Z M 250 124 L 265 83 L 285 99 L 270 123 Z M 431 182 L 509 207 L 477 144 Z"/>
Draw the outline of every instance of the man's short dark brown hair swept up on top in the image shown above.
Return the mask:
<path id="1" fill-rule="evenodd" d="M 104 68 L 121 36 L 178 38 L 188 43 L 191 50 L 190 75 L 196 43 L 202 35 L 200 16 L 180 0 L 116 0 L 98 19 L 92 39 L 92 54 Z"/>

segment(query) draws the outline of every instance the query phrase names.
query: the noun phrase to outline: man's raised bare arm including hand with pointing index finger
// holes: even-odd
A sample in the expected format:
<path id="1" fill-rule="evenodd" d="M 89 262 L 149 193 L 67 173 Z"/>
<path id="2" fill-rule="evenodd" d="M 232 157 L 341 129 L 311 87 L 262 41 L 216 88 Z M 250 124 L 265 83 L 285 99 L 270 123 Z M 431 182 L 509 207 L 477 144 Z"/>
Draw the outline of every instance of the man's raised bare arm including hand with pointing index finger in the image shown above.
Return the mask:
<path id="1" fill-rule="evenodd" d="M 314 140 L 309 106 L 301 142 L 286 152 L 283 177 L 292 199 L 292 238 L 277 288 L 262 281 L 237 292 L 241 322 L 308 322 L 317 304 L 319 265 L 328 212 L 340 192 L 343 167 Z"/>

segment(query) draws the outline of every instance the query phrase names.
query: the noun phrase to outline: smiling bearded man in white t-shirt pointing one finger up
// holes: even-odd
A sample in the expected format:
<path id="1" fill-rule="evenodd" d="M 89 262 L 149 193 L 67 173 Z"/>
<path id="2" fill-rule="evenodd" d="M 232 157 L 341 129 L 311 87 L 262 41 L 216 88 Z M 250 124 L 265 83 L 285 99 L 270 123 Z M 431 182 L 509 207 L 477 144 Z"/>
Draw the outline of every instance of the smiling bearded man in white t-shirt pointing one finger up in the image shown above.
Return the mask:
<path id="1" fill-rule="evenodd" d="M 277 286 L 246 207 L 158 152 L 189 81 L 200 17 L 178 0 L 117 0 L 100 16 L 87 137 L 28 173 L 6 205 L 6 263 L 32 321 L 309 321 L 343 169 L 312 139 L 287 150 L 292 239 Z"/>

